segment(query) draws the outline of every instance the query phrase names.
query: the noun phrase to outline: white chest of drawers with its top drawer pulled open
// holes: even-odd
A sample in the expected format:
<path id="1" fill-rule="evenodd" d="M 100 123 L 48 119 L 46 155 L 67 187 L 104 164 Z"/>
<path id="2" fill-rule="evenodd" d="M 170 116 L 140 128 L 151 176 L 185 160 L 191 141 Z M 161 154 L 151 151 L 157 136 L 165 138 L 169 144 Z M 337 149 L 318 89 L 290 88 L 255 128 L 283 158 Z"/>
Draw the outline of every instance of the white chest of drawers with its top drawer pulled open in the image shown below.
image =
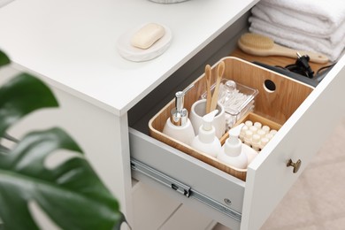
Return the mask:
<path id="1" fill-rule="evenodd" d="M 150 138 L 145 132 L 147 124 L 142 122 L 170 100 L 176 88 L 200 75 L 204 63 L 214 63 L 234 48 L 236 36 L 246 27 L 246 15 L 256 3 L 193 0 L 163 5 L 146 0 L 16 0 L 4 6 L 0 9 L 0 49 L 12 58 L 14 68 L 32 71 L 46 80 L 61 104 L 58 111 L 36 114 L 13 132 L 19 134 L 38 126 L 65 127 L 83 146 L 134 226 L 139 221 L 136 215 L 145 216 L 133 214 L 140 203 L 145 203 L 140 197 L 145 197 L 142 195 L 147 190 L 139 189 L 145 185 L 157 194 L 157 201 L 149 200 L 151 205 L 162 209 L 161 216 L 140 220 L 152 228 L 163 223 L 169 226 L 165 219 L 172 218 L 171 211 L 184 203 L 226 226 L 257 229 L 344 114 L 341 98 L 345 58 L 250 165 L 246 182 Z M 171 47 L 161 57 L 144 63 L 119 57 L 119 35 L 146 21 L 172 29 Z M 318 133 L 314 132 L 316 126 Z M 183 182 L 195 194 L 220 203 L 220 208 L 210 207 L 203 199 L 180 195 L 136 171 L 133 176 L 139 182 L 133 186 L 131 157 Z M 299 173 L 286 167 L 289 158 L 302 160 Z M 170 196 L 175 198 L 173 202 L 168 201 Z M 164 199 L 164 204 L 157 204 Z M 231 201 L 230 216 L 227 210 L 221 211 L 227 207 L 224 199 Z"/>

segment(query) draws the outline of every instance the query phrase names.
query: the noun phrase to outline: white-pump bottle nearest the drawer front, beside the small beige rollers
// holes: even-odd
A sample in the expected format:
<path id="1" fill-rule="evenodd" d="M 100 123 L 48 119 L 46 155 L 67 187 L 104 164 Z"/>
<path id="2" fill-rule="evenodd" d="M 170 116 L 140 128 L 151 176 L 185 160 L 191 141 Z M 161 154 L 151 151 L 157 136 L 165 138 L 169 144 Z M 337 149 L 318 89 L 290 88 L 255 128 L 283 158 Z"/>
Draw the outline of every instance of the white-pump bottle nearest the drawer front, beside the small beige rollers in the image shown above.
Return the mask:
<path id="1" fill-rule="evenodd" d="M 248 145 L 243 144 L 238 136 L 241 133 L 242 125 L 235 126 L 229 130 L 229 138 L 226 139 L 218 159 L 227 165 L 234 166 L 238 169 L 246 169 L 249 165 L 248 156 L 252 154 L 257 154 L 257 151 L 251 149 Z M 248 152 L 248 153 L 247 153 Z"/>

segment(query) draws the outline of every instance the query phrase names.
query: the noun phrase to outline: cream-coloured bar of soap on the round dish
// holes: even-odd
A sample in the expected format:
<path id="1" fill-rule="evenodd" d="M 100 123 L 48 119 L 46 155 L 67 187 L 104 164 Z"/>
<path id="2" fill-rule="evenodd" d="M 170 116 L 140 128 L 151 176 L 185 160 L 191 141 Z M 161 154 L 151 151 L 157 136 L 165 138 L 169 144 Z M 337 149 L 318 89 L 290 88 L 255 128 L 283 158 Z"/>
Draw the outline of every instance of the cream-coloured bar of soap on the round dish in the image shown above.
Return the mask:
<path id="1" fill-rule="evenodd" d="M 142 50 L 149 49 L 155 42 L 165 35 L 165 28 L 156 23 L 149 23 L 134 33 L 131 44 Z"/>

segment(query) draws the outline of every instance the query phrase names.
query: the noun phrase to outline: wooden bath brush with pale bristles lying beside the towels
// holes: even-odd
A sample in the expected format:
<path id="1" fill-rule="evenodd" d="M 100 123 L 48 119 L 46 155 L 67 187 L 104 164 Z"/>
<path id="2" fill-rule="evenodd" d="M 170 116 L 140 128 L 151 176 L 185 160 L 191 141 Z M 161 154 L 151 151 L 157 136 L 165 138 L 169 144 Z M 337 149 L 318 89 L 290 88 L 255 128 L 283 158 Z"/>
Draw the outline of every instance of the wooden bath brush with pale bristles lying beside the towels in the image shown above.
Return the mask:
<path id="1" fill-rule="evenodd" d="M 322 64 L 328 62 L 328 58 L 323 54 L 304 50 L 293 50 L 274 43 L 271 38 L 265 35 L 258 35 L 255 33 L 243 34 L 237 44 L 244 52 L 257 56 L 276 55 L 296 58 L 296 53 L 299 52 L 301 55 L 308 55 L 309 58 L 311 58 L 311 62 Z"/>

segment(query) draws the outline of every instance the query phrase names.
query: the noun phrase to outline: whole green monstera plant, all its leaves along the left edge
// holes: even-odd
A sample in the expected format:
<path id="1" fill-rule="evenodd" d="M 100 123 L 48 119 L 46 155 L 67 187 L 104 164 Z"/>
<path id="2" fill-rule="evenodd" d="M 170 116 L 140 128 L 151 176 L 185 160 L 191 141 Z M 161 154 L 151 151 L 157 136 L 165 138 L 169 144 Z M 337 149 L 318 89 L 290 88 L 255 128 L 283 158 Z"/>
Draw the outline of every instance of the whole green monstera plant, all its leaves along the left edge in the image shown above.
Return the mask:
<path id="1" fill-rule="evenodd" d="M 0 51 L 0 66 L 8 63 Z M 0 88 L 0 229 L 39 229 L 30 203 L 62 229 L 119 229 L 126 219 L 118 201 L 64 130 L 35 131 L 22 140 L 5 133 L 30 112 L 57 106 L 50 88 L 27 73 Z M 15 142 L 13 147 L 2 145 L 4 139 Z M 58 149 L 77 157 L 47 167 L 47 157 Z"/>

